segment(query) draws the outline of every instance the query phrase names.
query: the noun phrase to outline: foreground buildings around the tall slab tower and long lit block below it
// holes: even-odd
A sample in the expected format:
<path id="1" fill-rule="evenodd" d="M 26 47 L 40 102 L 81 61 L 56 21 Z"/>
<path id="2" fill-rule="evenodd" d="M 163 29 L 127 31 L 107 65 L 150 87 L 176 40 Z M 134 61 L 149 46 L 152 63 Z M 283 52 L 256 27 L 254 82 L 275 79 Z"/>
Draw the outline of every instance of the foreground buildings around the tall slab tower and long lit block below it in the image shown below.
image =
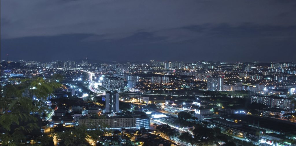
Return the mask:
<path id="1" fill-rule="evenodd" d="M 85 105 L 83 102 L 70 108 L 59 107 L 54 111 L 54 125 L 64 126 L 86 125 L 88 129 L 150 129 L 150 118 L 141 111 L 121 112 L 119 110 L 119 94 L 116 91 L 106 92 L 105 109 L 97 105 Z M 70 115 L 67 114 L 70 112 Z M 104 114 L 103 114 L 104 113 Z M 98 117 L 97 115 L 102 115 Z M 103 118 L 102 118 L 103 117 Z"/>

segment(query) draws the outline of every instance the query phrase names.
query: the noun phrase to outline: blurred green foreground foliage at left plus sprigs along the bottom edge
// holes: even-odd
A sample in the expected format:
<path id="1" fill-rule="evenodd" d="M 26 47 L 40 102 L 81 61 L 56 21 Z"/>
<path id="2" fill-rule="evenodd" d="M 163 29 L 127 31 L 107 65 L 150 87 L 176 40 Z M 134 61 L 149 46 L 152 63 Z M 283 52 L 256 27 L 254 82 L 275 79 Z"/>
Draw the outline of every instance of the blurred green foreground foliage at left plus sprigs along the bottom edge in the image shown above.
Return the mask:
<path id="1" fill-rule="evenodd" d="M 57 78 L 53 80 L 44 80 L 43 78 L 23 79 L 19 81 L 20 84 L 18 85 L 3 87 L 4 92 L 1 94 L 0 102 L 1 109 L 4 109 L 0 115 L 1 145 L 22 145 L 21 141 L 26 142 L 25 135 L 36 134 L 37 132 L 33 130 L 40 131 L 37 121 L 41 120 L 42 113 L 45 113 L 44 101 L 47 97 L 53 96 L 55 89 L 61 87 L 61 84 L 57 83 L 56 80 Z M 34 98 L 32 98 L 33 95 Z M 12 124 L 17 125 L 17 128 L 12 129 Z M 74 146 L 85 145 L 83 142 L 86 138 L 95 138 L 98 135 L 102 135 L 102 131 L 88 131 L 85 125 L 79 125 L 78 128 L 58 132 L 56 136 L 62 139 L 66 146 Z M 49 141 L 52 141 L 46 134 L 40 134 L 30 140 L 34 145 L 49 145 Z"/>

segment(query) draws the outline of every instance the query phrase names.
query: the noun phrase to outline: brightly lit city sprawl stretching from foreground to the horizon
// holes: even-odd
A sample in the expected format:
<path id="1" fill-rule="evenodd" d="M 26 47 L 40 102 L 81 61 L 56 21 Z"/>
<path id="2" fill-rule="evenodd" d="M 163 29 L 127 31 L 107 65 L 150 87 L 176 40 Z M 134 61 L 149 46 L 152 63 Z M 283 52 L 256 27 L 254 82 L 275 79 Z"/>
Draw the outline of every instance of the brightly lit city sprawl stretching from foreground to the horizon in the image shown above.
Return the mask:
<path id="1" fill-rule="evenodd" d="M 59 86 L 39 93 L 49 83 Z M 9 94 L 19 86 L 20 94 Z M 295 89 L 293 62 L 1 61 L 1 114 L 13 112 L 4 97 L 44 109 L 31 111 L 37 120 L 8 124 L 37 126 L 25 131 L 22 144 L 46 134 L 53 145 L 65 145 L 59 133 L 84 126 L 102 131 L 85 145 L 293 146 Z"/>

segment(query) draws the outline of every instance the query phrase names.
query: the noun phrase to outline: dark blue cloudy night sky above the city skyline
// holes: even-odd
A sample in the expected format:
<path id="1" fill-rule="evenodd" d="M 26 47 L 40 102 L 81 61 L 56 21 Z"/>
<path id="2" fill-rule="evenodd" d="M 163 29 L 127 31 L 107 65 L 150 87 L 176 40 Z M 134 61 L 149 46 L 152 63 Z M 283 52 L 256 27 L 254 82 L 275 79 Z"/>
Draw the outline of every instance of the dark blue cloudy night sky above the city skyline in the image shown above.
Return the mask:
<path id="1" fill-rule="evenodd" d="M 1 0 L 1 60 L 296 62 L 296 1 Z"/>

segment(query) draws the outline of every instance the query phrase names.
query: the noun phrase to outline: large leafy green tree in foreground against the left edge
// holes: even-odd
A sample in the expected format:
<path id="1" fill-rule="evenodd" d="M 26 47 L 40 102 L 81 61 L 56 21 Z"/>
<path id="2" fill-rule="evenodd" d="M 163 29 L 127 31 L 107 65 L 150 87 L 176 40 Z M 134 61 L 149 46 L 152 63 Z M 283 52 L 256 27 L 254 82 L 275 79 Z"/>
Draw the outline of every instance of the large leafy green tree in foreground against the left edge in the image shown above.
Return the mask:
<path id="1" fill-rule="evenodd" d="M 40 116 L 30 113 L 38 113 L 38 115 L 45 113 L 44 100 L 53 96 L 54 90 L 61 86 L 55 82 L 55 79 L 44 80 L 41 77 L 16 82 L 19 84 L 2 87 L 3 94 L 0 102 L 1 109 L 4 109 L 0 115 L 2 145 L 20 145 L 21 140 L 24 140 L 22 137 L 33 130 L 38 130 L 40 127 L 36 122 L 40 120 L 38 119 Z M 12 124 L 16 124 L 17 128 L 12 129 Z M 40 139 L 43 145 L 46 145 L 48 141 L 44 140 L 49 140 L 49 137 L 38 136 L 34 140 L 40 141 Z"/>

